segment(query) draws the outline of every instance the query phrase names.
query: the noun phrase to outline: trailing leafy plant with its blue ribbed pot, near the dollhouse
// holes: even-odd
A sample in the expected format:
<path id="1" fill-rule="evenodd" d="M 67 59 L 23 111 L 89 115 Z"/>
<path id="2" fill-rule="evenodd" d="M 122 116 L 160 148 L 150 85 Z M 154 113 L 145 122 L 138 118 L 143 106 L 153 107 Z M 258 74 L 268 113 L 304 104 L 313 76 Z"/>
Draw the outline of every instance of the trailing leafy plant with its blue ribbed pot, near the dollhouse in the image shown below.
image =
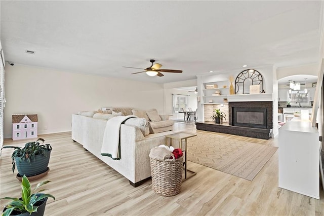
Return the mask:
<path id="1" fill-rule="evenodd" d="M 43 141 L 42 145 L 39 141 Z M 3 149 L 15 149 L 11 155 L 12 171 L 17 169 L 20 176 L 34 176 L 48 170 L 52 147 L 50 144 L 43 145 L 44 139 L 38 138 L 34 142 L 27 142 L 24 148 L 15 146 L 5 146 Z"/>

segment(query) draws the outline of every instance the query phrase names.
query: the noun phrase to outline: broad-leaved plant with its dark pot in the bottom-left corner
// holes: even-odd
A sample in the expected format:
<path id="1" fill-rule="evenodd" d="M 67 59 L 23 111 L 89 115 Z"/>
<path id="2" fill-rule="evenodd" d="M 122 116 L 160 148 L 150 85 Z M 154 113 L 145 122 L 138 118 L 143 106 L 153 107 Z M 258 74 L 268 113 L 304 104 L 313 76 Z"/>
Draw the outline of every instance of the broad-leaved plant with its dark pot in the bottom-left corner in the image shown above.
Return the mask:
<path id="1" fill-rule="evenodd" d="M 36 190 L 51 181 L 44 181 L 38 183 L 34 191 L 31 193 L 30 183 L 28 178 L 24 175 L 21 181 L 21 198 L 12 198 L 4 197 L 1 199 L 11 199 L 12 202 L 5 205 L 3 210 L 3 216 L 7 215 L 44 215 L 45 206 L 48 197 L 52 197 L 55 200 L 55 197 L 51 194 L 39 193 L 45 191 L 46 189 Z"/>

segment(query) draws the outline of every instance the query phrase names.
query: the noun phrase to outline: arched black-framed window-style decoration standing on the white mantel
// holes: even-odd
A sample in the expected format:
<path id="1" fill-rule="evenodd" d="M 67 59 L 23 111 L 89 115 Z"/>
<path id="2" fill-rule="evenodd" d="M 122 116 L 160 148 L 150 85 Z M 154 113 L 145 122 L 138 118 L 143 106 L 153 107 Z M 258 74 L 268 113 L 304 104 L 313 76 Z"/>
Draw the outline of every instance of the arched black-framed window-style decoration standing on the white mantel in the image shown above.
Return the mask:
<path id="1" fill-rule="evenodd" d="M 246 69 L 239 73 L 235 79 L 235 94 L 249 94 L 250 86 L 260 85 L 260 93 L 263 93 L 263 79 L 259 71 Z"/>

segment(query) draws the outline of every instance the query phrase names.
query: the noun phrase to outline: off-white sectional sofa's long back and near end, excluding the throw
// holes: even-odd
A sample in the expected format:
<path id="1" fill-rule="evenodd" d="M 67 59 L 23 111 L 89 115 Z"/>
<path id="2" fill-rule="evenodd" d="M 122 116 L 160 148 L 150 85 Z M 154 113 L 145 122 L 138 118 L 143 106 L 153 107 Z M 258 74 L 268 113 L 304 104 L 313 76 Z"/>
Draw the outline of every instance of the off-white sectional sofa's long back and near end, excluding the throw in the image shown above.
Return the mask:
<path id="1" fill-rule="evenodd" d="M 93 118 L 91 114 L 72 114 L 72 139 L 124 175 L 132 186 L 137 187 L 151 176 L 148 156 L 151 148 L 165 144 L 167 134 L 179 131 L 148 134 L 145 118 L 129 120 L 120 125 L 120 160 L 112 160 L 110 157 L 101 155 L 106 119 Z"/>

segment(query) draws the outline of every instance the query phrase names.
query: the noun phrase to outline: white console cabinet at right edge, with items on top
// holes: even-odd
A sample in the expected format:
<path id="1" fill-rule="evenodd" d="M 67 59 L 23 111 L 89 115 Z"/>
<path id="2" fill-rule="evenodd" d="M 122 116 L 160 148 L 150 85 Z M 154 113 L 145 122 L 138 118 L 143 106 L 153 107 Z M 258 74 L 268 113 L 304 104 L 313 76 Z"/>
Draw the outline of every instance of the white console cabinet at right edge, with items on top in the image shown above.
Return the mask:
<path id="1" fill-rule="evenodd" d="M 279 129 L 279 187 L 319 199 L 319 133 L 295 117 Z"/>

